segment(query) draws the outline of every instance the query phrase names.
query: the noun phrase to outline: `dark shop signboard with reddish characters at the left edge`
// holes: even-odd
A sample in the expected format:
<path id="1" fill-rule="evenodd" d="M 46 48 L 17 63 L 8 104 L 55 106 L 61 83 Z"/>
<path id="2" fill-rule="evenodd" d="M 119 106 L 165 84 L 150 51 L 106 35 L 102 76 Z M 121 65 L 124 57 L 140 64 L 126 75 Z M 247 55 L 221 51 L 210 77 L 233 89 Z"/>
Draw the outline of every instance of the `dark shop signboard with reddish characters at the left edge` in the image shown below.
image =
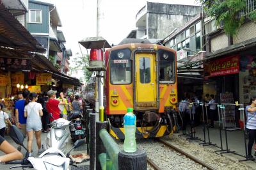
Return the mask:
<path id="1" fill-rule="evenodd" d="M 0 58 L 0 69 L 12 72 L 31 70 L 31 61 L 29 59 Z"/>

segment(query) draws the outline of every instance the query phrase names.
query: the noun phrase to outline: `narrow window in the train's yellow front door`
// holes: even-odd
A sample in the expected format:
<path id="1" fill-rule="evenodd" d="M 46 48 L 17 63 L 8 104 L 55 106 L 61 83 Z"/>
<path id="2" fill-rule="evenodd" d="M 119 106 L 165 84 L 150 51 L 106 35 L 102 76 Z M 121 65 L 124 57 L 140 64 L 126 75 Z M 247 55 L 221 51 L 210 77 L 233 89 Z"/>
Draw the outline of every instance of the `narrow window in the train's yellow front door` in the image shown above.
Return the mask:
<path id="1" fill-rule="evenodd" d="M 150 58 L 140 58 L 140 82 L 150 82 Z"/>

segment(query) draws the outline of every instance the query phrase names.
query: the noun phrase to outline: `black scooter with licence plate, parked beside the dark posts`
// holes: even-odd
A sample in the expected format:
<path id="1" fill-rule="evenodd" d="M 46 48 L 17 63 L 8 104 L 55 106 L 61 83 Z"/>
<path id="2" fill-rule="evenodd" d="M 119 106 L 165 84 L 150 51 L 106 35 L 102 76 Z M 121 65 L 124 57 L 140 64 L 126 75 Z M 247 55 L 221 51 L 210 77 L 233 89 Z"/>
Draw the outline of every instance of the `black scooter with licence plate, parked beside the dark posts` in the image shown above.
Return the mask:
<path id="1" fill-rule="evenodd" d="M 70 120 L 70 136 L 74 142 L 85 137 L 85 128 L 83 128 L 81 117 L 83 116 L 79 112 L 72 112 L 71 116 L 68 117 L 68 120 Z"/>

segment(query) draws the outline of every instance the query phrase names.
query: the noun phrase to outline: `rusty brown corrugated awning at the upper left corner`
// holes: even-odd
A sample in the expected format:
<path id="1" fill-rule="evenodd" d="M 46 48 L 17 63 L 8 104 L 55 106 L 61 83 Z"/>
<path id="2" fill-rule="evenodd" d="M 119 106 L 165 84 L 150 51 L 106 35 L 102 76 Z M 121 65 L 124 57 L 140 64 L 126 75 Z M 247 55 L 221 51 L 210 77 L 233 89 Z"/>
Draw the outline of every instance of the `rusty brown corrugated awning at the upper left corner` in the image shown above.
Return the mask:
<path id="1" fill-rule="evenodd" d="M 8 47 L 22 51 L 44 52 L 45 49 L 35 38 L 13 17 L 12 13 L 0 1 L 0 47 Z"/>

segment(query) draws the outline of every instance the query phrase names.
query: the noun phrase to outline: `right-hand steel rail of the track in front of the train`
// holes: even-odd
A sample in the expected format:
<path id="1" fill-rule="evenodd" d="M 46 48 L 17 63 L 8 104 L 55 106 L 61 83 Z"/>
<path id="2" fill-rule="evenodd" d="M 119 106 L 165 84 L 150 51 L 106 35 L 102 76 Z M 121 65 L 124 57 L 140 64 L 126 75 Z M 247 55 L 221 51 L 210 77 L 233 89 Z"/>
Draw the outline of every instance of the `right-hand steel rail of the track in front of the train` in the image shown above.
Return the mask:
<path id="1" fill-rule="evenodd" d="M 196 157 L 193 157 L 192 155 L 190 155 L 189 153 L 186 153 L 185 151 L 182 151 L 180 150 L 179 148 L 177 148 L 176 146 L 173 146 L 172 144 L 170 143 L 167 143 L 166 141 L 164 141 L 163 139 L 158 139 L 159 143 L 162 143 L 164 144 L 165 146 L 168 146 L 168 148 L 171 148 L 172 150 L 175 150 L 179 153 L 181 153 L 182 155 L 185 155 L 186 157 L 190 158 L 191 160 L 193 160 L 194 162 L 204 166 L 204 167 L 207 167 L 207 169 L 210 169 L 210 170 L 216 170 L 214 167 L 210 166 L 209 164 L 205 164 L 205 162 L 202 162 L 202 160 L 199 160 L 198 158 Z"/>

